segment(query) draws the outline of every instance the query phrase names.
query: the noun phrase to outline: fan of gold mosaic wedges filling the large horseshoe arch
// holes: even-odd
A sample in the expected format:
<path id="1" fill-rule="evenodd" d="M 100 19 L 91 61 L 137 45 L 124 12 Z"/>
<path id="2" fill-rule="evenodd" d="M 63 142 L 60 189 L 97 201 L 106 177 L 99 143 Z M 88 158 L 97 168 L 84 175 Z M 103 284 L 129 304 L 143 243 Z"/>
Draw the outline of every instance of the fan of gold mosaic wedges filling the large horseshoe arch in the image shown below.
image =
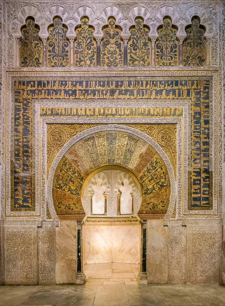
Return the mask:
<path id="1" fill-rule="evenodd" d="M 171 182 L 160 154 L 147 141 L 121 131 L 97 132 L 73 144 L 60 160 L 53 178 L 52 198 L 58 216 L 84 215 L 81 189 L 97 169 L 118 165 L 129 170 L 142 187 L 139 214 L 162 214 L 170 204 Z"/>

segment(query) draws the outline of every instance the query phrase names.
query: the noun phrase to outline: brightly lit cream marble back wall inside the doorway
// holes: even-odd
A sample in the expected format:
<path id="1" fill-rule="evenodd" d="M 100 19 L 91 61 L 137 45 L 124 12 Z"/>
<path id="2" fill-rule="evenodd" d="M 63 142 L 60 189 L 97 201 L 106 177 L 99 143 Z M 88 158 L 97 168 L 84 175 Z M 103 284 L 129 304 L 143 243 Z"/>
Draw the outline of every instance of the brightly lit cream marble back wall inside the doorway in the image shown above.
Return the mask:
<path id="1" fill-rule="evenodd" d="M 140 262 L 140 225 L 95 224 L 83 226 L 84 264 Z"/>

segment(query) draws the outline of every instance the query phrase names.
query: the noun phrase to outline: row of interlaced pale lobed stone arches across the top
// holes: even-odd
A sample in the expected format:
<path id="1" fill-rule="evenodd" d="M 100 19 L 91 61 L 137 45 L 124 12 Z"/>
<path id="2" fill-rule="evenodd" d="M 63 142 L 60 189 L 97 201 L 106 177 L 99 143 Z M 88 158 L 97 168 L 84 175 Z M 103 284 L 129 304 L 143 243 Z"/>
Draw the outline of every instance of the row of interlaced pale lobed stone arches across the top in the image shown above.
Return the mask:
<path id="1" fill-rule="evenodd" d="M 199 16 L 201 23 L 206 28 L 206 37 L 215 36 L 217 33 L 217 20 L 216 16 L 212 15 L 210 12 L 206 11 L 206 8 L 196 5 L 188 5 L 184 11 L 178 11 L 175 5 L 161 5 L 157 10 L 152 12 L 145 6 L 139 5 L 133 7 L 130 12 L 123 12 L 120 7 L 108 6 L 102 9 L 102 12 L 96 16 L 94 10 L 91 6 L 80 6 L 75 10 L 75 13 L 71 15 L 68 9 L 63 5 L 54 5 L 48 8 L 47 12 L 42 16 L 41 12 L 34 5 L 23 6 L 19 11 L 16 18 L 14 18 L 8 28 L 8 34 L 11 37 L 20 37 L 20 28 L 25 24 L 25 19 L 28 16 L 35 18 L 35 22 L 40 27 L 40 37 L 47 38 L 47 28 L 50 23 L 52 23 L 52 18 L 58 15 L 63 19 L 68 27 L 68 38 L 75 38 L 75 27 L 80 23 L 81 16 L 88 16 L 90 20 L 90 25 L 95 28 L 95 37 L 102 38 L 102 27 L 107 25 L 107 20 L 109 16 L 116 18 L 116 23 L 122 28 L 122 37 L 125 39 L 129 38 L 130 33 L 128 29 L 134 24 L 134 19 L 137 16 L 144 18 L 144 23 L 150 27 L 150 37 L 157 38 L 157 28 L 163 22 L 163 17 L 168 15 L 172 18 L 174 25 L 178 27 L 178 36 L 185 36 L 185 27 L 191 23 L 191 18 L 193 16 Z"/>

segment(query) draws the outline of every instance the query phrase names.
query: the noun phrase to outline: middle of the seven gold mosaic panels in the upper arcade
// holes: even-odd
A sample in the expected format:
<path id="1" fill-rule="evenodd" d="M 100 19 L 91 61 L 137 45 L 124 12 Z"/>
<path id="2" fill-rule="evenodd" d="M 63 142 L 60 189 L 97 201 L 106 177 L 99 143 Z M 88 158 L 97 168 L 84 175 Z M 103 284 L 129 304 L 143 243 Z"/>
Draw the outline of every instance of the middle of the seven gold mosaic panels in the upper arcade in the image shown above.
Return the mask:
<path id="1" fill-rule="evenodd" d="M 101 44 L 101 66 L 123 66 L 123 43 L 121 41 L 120 27 L 116 26 L 114 17 L 108 18 L 108 25 L 103 29 L 103 41 Z"/>

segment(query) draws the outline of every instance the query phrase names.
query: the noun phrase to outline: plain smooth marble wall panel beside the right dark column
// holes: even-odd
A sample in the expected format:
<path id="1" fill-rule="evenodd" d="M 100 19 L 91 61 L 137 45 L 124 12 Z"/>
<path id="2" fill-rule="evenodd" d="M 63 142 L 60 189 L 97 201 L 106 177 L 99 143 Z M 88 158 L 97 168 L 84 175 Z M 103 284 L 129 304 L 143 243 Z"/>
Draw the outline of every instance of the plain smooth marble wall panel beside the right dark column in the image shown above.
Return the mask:
<path id="1" fill-rule="evenodd" d="M 168 281 L 168 228 L 163 220 L 147 221 L 147 275 L 149 284 Z"/>

